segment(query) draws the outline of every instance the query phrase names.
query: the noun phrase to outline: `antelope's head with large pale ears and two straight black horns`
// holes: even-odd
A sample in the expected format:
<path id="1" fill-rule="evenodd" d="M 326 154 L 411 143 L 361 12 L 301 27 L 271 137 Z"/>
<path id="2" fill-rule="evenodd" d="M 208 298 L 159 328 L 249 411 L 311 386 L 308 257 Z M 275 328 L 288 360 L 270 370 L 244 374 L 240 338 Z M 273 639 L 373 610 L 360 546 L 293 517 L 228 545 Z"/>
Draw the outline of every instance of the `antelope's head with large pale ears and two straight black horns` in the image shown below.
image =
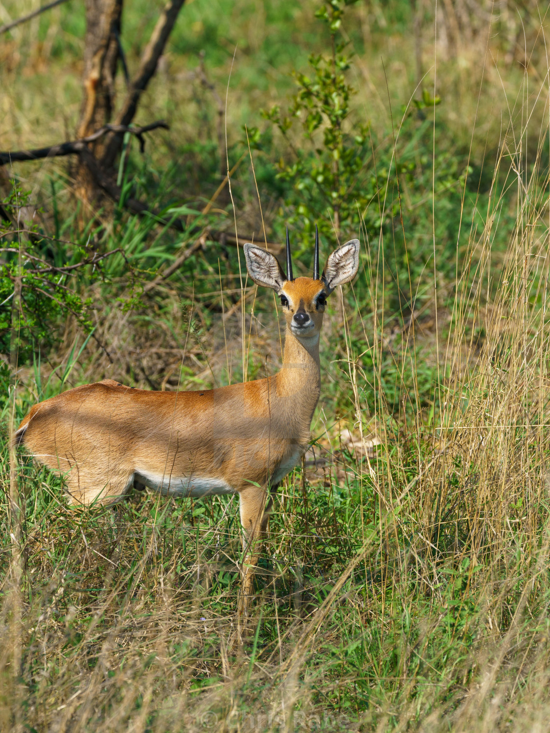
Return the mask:
<path id="1" fill-rule="evenodd" d="M 359 268 L 359 240 L 351 239 L 329 254 L 319 276 L 319 234 L 315 226 L 313 277 L 293 277 L 287 228 L 287 274 L 275 257 L 255 244 L 245 244 L 244 255 L 249 275 L 257 285 L 271 287 L 279 298 L 287 329 L 300 341 L 317 342 L 326 298 L 338 285 L 349 282 Z"/>

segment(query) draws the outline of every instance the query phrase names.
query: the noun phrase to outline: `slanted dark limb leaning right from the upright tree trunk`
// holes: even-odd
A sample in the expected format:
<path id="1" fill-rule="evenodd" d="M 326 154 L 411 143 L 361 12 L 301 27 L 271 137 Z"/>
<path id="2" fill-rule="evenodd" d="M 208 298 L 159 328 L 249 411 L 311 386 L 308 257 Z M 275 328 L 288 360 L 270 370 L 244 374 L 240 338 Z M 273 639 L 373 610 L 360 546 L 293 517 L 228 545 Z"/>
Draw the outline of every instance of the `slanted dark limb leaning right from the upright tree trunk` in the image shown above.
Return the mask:
<path id="1" fill-rule="evenodd" d="M 158 18 L 153 34 L 151 34 L 149 43 L 147 43 L 142 59 L 139 62 L 139 69 L 131 81 L 128 94 L 117 114 L 118 125 L 129 125 L 133 120 L 139 98 L 147 88 L 147 84 L 149 84 L 156 71 L 158 59 L 160 59 L 164 52 L 166 41 L 172 32 L 177 15 L 183 7 L 184 2 L 185 0 L 169 0 L 166 7 L 164 7 L 161 17 Z M 113 165 L 121 145 L 122 134 L 115 133 L 106 145 L 106 150 L 101 160 L 103 167 L 109 169 Z"/>

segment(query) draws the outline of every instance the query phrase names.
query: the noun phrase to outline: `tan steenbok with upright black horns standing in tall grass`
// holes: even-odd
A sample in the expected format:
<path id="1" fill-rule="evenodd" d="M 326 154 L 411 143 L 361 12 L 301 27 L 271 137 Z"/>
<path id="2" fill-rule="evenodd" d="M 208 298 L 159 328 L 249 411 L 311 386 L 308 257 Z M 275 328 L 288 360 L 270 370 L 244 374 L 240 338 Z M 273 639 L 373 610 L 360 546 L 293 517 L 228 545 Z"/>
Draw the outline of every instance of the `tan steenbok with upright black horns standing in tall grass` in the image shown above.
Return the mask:
<path id="1" fill-rule="evenodd" d="M 106 379 L 34 405 L 15 441 L 64 474 L 71 503 L 81 506 L 117 501 L 133 482 L 177 496 L 238 493 L 246 608 L 271 510 L 268 493 L 309 445 L 326 298 L 356 274 L 359 240 L 334 251 L 319 276 L 316 233 L 312 278 L 293 278 L 288 232 L 286 275 L 265 249 L 245 244 L 244 254 L 252 280 L 281 298 L 287 330 L 276 375 L 191 392 L 133 389 Z"/>

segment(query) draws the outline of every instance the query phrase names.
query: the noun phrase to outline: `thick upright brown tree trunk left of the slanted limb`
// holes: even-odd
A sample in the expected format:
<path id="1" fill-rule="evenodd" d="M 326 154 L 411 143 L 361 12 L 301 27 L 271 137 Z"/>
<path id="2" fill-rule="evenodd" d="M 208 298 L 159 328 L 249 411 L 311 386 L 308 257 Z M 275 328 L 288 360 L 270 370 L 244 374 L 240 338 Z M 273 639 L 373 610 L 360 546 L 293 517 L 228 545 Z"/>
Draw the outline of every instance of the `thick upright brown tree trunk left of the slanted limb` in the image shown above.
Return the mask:
<path id="1" fill-rule="evenodd" d="M 84 96 L 78 123 L 78 138 L 91 135 L 111 121 L 114 108 L 114 77 L 119 60 L 120 22 L 123 0 L 86 0 L 84 39 Z M 90 145 L 95 158 L 103 156 L 103 138 Z M 79 198 L 92 204 L 100 189 L 84 161 L 76 171 Z"/>

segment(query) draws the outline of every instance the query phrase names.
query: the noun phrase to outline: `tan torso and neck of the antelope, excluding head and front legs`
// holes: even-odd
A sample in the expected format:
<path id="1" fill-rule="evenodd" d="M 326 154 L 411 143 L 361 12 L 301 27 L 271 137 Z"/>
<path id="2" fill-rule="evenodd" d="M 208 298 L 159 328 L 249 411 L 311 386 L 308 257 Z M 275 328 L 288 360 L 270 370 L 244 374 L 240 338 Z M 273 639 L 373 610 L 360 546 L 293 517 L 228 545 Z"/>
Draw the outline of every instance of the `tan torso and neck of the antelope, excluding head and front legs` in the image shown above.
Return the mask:
<path id="1" fill-rule="evenodd" d="M 34 405 L 18 432 L 36 460 L 65 474 L 79 504 L 116 501 L 134 478 L 184 496 L 240 493 L 280 481 L 299 462 L 319 380 L 318 345 L 308 350 L 288 334 L 274 377 L 188 392 L 104 380 Z M 220 487 L 194 489 L 201 479 Z"/>

